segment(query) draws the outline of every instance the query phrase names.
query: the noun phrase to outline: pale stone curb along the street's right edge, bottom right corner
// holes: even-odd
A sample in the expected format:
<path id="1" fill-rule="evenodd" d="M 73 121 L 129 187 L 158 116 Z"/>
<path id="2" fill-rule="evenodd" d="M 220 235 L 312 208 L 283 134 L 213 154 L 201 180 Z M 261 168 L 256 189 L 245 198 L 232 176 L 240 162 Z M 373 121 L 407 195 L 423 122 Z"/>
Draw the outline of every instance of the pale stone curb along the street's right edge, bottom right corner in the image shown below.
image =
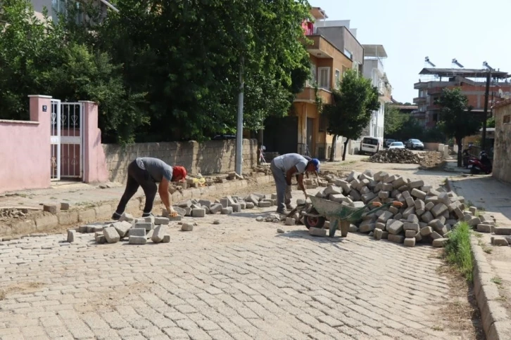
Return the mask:
<path id="1" fill-rule="evenodd" d="M 477 238 L 470 238 L 474 256 L 474 294 L 481 312 L 481 322 L 487 340 L 511 340 L 511 318 L 500 303 L 500 294 L 496 283 L 491 279 L 496 276 L 486 261 L 483 249 Z"/>

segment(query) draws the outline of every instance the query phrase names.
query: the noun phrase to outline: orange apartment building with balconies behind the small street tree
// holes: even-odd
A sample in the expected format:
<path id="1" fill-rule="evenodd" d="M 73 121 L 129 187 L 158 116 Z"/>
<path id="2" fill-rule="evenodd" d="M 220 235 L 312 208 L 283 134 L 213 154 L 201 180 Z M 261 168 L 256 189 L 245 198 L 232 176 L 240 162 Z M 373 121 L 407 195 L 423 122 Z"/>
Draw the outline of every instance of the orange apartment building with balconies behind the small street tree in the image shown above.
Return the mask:
<path id="1" fill-rule="evenodd" d="M 332 89 L 339 87 L 343 72 L 355 68 L 362 72 L 363 48 L 349 21 L 328 21 L 321 8 L 314 7 L 315 22 L 304 22 L 310 56 L 311 80 L 296 96 L 288 117 L 265 122 L 264 145 L 268 152 L 298 152 L 324 159 L 329 157 L 333 137 L 327 133 L 327 119 L 318 104 L 332 103 Z M 336 157 L 342 153 L 342 138 L 337 140 Z"/>

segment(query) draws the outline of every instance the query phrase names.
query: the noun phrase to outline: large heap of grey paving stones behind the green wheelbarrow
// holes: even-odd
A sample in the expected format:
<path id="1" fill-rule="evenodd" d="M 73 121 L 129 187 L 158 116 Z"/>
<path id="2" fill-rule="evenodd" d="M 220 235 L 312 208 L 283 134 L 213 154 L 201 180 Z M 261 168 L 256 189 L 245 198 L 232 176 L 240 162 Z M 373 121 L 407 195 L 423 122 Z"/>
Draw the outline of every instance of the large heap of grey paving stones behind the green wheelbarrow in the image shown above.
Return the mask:
<path id="1" fill-rule="evenodd" d="M 417 242 L 443 247 L 458 221 L 467 221 L 474 228 L 482 223 L 474 208 L 465 210 L 464 197 L 424 185 L 423 181 L 410 181 L 384 171 L 374 174 L 370 170 L 362 174 L 353 171 L 344 179 L 334 175 L 327 175 L 325 179 L 329 185 L 320 190 L 317 197 L 355 208 L 370 202 L 403 204 L 400 208 L 390 206 L 368 214 L 355 226 L 360 233 L 377 240 L 388 239 L 407 247 L 415 247 Z M 482 218 L 486 221 L 486 216 Z M 352 226 L 351 231 L 355 227 Z"/>

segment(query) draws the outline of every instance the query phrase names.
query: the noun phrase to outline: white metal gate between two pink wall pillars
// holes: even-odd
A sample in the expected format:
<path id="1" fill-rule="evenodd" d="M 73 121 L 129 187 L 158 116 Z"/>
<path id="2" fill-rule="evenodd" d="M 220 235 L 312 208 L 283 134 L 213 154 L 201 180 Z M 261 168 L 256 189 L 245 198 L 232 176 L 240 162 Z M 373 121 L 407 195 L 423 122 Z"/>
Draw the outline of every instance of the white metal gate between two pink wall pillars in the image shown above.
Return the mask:
<path id="1" fill-rule="evenodd" d="M 51 100 L 51 181 L 83 176 L 83 104 Z"/>

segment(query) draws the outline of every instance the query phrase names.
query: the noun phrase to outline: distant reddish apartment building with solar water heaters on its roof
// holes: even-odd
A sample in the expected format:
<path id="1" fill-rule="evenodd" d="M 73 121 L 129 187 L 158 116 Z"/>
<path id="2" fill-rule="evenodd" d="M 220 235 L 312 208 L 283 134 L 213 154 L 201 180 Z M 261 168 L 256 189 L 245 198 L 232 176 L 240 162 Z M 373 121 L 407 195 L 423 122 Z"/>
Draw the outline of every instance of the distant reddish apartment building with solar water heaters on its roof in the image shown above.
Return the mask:
<path id="1" fill-rule="evenodd" d="M 443 89 L 460 88 L 462 93 L 467 96 L 469 105 L 473 107 L 472 113 L 481 114 L 484 112 L 484 94 L 488 70 L 424 68 L 419 74 L 421 78 L 419 82 L 414 84 L 418 96 L 413 99 L 418 108 L 412 112 L 412 117 L 424 126 L 431 128 L 436 126 L 439 121 L 441 107 L 436 105 L 435 102 L 441 96 Z M 511 92 L 511 84 L 507 81 L 509 77 L 507 72 L 496 70 L 491 72 L 488 112 L 492 104 L 500 102 L 503 100 L 501 97 L 505 93 Z"/>

